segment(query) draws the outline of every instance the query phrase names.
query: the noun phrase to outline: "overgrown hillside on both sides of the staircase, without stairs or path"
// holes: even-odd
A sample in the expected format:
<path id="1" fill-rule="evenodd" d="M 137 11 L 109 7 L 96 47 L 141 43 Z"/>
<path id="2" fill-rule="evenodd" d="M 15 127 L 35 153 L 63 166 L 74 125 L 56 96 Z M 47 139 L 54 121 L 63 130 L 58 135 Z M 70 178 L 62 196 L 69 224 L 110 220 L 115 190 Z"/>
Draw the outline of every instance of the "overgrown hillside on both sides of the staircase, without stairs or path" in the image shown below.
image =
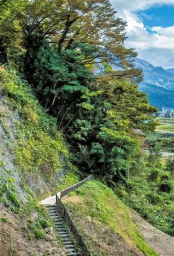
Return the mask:
<path id="1" fill-rule="evenodd" d="M 13 70 L 1 68 L 0 88 L 0 255 L 63 256 L 65 248 L 38 200 L 77 182 L 73 172 L 66 175 L 74 169 L 67 145 L 54 118 Z M 70 211 L 93 255 L 157 255 L 111 189 L 89 184 L 77 192 L 78 204 Z"/>

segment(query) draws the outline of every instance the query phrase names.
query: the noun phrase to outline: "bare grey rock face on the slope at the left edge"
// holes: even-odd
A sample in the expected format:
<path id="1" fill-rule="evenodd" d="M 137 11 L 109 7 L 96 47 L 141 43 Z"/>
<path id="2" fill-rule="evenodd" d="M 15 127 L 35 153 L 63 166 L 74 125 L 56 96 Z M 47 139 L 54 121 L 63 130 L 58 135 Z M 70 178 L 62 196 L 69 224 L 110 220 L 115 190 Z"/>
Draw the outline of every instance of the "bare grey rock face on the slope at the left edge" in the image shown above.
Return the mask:
<path id="1" fill-rule="evenodd" d="M 11 180 L 21 201 L 25 201 L 26 193 L 22 189 L 21 179 L 15 166 L 15 127 L 20 122 L 17 111 L 8 107 L 2 92 L 0 92 L 0 177 L 1 182 Z"/>

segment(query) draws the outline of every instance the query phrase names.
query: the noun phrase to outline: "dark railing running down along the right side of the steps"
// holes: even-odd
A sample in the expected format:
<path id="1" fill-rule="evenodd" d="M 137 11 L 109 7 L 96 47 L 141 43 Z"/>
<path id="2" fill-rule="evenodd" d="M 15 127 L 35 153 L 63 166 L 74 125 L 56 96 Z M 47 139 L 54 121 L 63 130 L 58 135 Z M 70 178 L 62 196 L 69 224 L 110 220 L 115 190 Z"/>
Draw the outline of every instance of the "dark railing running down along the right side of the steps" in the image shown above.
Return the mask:
<path id="1" fill-rule="evenodd" d="M 58 195 L 56 195 L 56 207 L 57 207 L 58 213 L 61 215 L 63 220 L 65 220 L 65 222 L 67 223 L 68 228 L 70 229 L 70 232 L 72 232 L 74 239 L 77 242 L 77 245 L 79 246 L 79 248 L 81 248 L 81 255 L 91 256 L 90 251 L 88 250 L 86 244 L 84 243 L 83 237 L 79 234 L 79 231 L 75 227 L 72 221 L 72 218 L 70 217 L 70 214 L 67 211 L 67 207 L 63 205 Z"/>

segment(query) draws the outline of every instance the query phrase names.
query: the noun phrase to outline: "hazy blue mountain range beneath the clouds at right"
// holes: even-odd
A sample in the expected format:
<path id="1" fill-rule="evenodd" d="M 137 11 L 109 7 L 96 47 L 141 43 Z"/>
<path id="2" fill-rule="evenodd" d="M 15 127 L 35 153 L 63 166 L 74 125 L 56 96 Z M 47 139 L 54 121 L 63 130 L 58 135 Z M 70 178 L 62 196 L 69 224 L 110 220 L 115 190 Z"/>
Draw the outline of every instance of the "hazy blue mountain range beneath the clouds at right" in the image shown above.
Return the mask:
<path id="1" fill-rule="evenodd" d="M 144 80 L 139 90 L 148 94 L 150 104 L 159 109 L 162 106 L 174 109 L 174 68 L 164 70 L 139 58 L 135 59 L 135 65 L 143 69 Z"/>

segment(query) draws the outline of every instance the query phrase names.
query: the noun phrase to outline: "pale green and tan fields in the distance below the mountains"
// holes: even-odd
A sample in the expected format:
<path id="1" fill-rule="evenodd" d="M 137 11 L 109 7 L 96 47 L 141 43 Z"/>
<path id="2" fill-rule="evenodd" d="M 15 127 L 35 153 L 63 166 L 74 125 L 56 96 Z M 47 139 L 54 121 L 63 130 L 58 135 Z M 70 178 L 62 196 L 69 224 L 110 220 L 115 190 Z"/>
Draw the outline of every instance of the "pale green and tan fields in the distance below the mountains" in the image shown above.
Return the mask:
<path id="1" fill-rule="evenodd" d="M 157 118 L 160 125 L 157 127 L 156 131 L 164 131 L 164 132 L 174 132 L 174 118 Z"/>

